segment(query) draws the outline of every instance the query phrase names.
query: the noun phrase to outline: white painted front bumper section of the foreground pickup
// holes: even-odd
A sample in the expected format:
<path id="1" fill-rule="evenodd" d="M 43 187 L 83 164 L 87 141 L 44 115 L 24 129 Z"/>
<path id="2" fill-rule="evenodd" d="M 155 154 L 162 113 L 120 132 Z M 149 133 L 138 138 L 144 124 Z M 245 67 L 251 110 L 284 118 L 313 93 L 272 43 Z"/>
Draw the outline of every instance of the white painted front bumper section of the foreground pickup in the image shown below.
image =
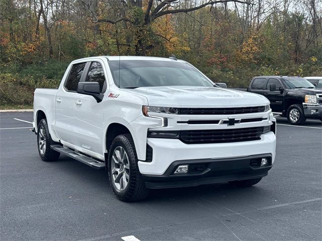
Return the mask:
<path id="1" fill-rule="evenodd" d="M 270 154 L 275 159 L 276 137 L 273 132 L 261 136 L 261 140 L 216 144 L 185 144 L 178 139 L 147 138 L 152 148 L 152 161 L 139 161 L 143 175 L 163 175 L 175 161 L 241 158 Z"/>

